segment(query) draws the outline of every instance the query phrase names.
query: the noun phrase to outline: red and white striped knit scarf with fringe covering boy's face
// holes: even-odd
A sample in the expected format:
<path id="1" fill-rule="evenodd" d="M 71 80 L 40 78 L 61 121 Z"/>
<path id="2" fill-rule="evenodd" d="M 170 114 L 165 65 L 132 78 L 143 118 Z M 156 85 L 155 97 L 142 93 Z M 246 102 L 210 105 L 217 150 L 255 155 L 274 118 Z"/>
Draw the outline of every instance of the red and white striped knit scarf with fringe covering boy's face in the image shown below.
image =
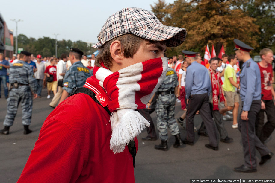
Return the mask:
<path id="1" fill-rule="evenodd" d="M 110 148 L 123 152 L 149 121 L 135 109 L 145 109 L 147 103 L 164 80 L 168 68 L 166 57 L 136 63 L 117 72 L 104 67 L 94 67 L 93 75 L 99 80 L 110 98 L 112 135 Z"/>

